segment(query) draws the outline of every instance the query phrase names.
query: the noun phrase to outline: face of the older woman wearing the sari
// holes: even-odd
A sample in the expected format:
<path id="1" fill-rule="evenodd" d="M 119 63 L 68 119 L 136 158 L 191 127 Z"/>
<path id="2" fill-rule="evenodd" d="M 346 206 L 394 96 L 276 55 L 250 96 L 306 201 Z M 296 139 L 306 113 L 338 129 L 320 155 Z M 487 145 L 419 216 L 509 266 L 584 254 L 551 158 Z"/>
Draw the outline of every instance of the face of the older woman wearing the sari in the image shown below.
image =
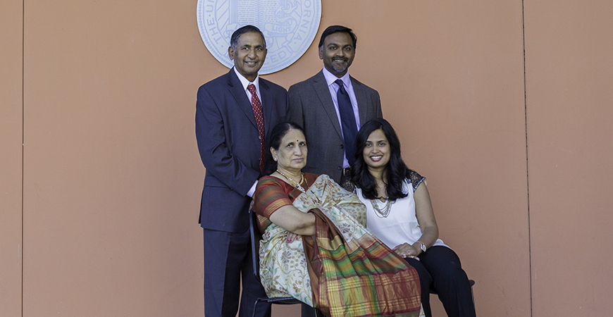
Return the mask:
<path id="1" fill-rule="evenodd" d="M 279 149 L 271 148 L 271 153 L 279 170 L 299 174 L 307 165 L 307 139 L 300 130 L 291 129 L 281 139 Z"/>

